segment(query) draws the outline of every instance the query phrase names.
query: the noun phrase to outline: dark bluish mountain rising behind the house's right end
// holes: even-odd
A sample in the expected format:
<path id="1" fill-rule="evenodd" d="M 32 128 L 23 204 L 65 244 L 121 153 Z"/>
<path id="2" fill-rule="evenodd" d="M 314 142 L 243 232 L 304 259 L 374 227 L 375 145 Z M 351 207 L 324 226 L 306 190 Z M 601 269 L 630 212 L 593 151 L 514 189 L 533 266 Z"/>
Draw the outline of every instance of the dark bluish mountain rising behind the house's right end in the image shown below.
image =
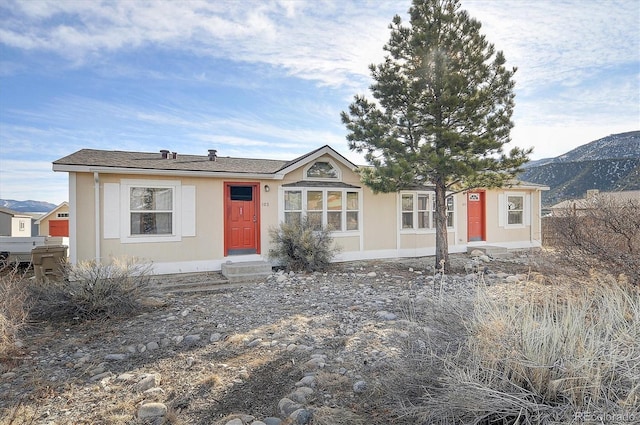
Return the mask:
<path id="1" fill-rule="evenodd" d="M 550 187 L 542 193 L 545 207 L 582 198 L 588 189 L 640 190 L 640 131 L 613 134 L 556 158 L 532 161 L 519 178 Z"/>

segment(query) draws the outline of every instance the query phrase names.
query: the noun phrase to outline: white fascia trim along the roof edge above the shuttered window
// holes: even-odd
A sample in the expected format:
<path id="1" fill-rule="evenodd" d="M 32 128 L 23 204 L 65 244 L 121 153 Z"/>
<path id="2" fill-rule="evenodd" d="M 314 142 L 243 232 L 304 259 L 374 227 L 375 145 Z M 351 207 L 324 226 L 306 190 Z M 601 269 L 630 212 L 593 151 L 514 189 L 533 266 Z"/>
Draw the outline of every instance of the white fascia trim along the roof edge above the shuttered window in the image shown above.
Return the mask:
<path id="1" fill-rule="evenodd" d="M 88 167 L 85 165 L 55 165 L 53 171 L 93 173 L 100 174 L 141 174 L 147 176 L 172 176 L 172 177 L 218 177 L 225 179 L 251 179 L 251 180 L 281 180 L 276 174 L 254 173 L 230 173 L 214 171 L 193 170 L 157 170 L 147 168 L 121 168 L 121 167 Z"/>

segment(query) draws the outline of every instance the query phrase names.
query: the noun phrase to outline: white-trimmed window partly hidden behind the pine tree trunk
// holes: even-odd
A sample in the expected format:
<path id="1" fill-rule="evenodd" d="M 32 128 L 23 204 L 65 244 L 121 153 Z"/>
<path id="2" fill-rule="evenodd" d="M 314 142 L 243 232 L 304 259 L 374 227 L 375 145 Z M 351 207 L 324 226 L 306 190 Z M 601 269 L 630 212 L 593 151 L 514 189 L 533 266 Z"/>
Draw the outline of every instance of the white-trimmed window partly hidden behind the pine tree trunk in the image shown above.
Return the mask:
<path id="1" fill-rule="evenodd" d="M 400 204 L 402 229 L 435 229 L 435 193 L 402 192 Z M 453 206 L 453 196 L 447 197 L 447 227 L 453 227 Z"/>

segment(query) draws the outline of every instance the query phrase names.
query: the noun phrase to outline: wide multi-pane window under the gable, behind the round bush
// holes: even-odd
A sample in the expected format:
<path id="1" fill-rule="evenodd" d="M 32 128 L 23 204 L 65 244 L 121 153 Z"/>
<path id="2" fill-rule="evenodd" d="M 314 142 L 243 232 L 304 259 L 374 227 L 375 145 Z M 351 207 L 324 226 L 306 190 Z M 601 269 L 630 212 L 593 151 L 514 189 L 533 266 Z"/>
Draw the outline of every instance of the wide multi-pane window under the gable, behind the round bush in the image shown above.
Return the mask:
<path id="1" fill-rule="evenodd" d="M 295 223 L 302 217 L 320 230 L 360 229 L 360 193 L 350 189 L 296 188 L 284 191 L 284 221 Z"/>

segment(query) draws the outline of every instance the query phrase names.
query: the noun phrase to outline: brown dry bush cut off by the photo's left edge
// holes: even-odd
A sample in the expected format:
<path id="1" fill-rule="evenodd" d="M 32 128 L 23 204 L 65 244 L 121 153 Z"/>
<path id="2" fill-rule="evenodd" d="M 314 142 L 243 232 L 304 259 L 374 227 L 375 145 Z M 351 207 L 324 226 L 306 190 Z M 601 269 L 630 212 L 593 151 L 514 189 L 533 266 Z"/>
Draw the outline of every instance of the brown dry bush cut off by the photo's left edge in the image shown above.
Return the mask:
<path id="1" fill-rule="evenodd" d="M 24 280 L 17 264 L 0 270 L 0 359 L 16 350 L 17 335 L 29 316 Z"/>

